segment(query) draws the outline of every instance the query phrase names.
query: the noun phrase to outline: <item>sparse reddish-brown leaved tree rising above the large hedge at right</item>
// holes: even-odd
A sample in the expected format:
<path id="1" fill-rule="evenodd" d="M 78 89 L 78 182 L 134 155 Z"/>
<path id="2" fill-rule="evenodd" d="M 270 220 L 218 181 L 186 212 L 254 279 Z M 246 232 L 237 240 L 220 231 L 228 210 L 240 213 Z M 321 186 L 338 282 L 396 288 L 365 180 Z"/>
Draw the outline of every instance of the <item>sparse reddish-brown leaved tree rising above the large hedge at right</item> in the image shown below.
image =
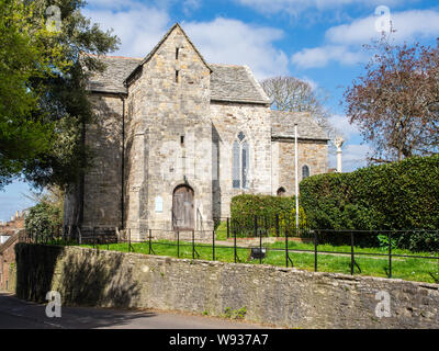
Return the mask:
<path id="1" fill-rule="evenodd" d="M 439 39 L 436 48 L 395 45 L 383 35 L 376 54 L 345 92 L 346 113 L 375 150 L 372 162 L 438 152 Z"/>

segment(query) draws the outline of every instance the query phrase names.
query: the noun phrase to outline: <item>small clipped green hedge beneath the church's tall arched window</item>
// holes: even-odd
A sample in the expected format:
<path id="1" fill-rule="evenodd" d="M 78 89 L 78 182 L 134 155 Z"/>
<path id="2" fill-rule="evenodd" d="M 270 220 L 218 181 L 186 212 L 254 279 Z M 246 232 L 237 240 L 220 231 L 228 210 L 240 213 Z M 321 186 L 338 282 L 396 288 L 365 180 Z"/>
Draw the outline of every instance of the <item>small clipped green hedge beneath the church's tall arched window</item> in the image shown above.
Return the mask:
<path id="1" fill-rule="evenodd" d="M 300 226 L 306 227 L 303 208 L 300 211 Z M 232 199 L 232 226 L 237 229 L 238 236 L 252 236 L 255 216 L 258 227 L 264 228 L 269 235 L 275 235 L 275 216 L 279 215 L 280 235 L 284 235 L 285 225 L 291 235 L 295 228 L 295 197 L 270 195 L 238 195 Z"/>

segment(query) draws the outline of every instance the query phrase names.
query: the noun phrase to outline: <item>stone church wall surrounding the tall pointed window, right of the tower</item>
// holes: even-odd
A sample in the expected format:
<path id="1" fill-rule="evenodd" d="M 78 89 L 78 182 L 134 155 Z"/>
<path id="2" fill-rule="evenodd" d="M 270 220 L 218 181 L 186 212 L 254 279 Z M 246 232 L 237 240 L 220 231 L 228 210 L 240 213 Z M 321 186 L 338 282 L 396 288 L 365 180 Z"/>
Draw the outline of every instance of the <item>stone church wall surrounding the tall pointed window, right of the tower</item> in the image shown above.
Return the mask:
<path id="1" fill-rule="evenodd" d="M 216 143 L 219 146 L 213 180 L 214 216 L 228 217 L 232 197 L 243 193 L 271 194 L 269 107 L 258 104 L 212 102 L 210 110 L 214 145 Z M 233 144 L 240 132 L 250 146 L 248 189 L 233 189 Z"/>

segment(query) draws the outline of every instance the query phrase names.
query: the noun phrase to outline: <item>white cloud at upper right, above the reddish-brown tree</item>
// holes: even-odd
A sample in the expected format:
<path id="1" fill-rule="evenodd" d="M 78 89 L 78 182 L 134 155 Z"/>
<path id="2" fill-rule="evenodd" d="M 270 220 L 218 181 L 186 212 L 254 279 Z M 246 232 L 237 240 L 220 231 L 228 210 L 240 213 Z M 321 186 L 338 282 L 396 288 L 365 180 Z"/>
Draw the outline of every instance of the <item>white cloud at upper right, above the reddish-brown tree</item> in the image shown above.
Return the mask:
<path id="1" fill-rule="evenodd" d="M 349 24 L 333 26 L 325 33 L 325 44 L 304 48 L 292 56 L 292 61 L 301 68 L 325 67 L 330 61 L 356 65 L 368 60 L 362 44 L 370 44 L 380 36 L 375 23 L 379 16 L 358 19 Z M 432 38 L 439 36 L 439 12 L 432 10 L 410 10 L 391 13 L 396 33 L 395 42 Z"/>

